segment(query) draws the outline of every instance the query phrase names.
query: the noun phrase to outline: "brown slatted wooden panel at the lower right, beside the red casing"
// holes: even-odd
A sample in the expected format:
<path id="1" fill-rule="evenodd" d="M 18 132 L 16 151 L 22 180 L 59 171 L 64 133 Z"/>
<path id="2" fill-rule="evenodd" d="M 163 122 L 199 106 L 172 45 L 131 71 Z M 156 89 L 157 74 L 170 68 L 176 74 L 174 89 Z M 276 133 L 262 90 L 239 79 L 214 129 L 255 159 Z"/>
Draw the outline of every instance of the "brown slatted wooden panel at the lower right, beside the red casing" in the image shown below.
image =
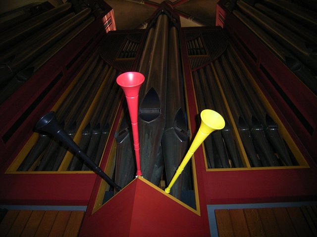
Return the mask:
<path id="1" fill-rule="evenodd" d="M 317 206 L 215 210 L 219 237 L 317 237 Z"/>

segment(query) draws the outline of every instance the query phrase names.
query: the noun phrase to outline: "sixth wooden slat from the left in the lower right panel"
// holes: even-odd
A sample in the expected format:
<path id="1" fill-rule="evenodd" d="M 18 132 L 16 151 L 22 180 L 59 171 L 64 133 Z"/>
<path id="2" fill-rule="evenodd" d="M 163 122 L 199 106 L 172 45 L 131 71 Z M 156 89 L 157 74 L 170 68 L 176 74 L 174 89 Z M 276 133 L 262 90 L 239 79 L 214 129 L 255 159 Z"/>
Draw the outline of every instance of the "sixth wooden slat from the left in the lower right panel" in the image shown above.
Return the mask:
<path id="1" fill-rule="evenodd" d="M 300 207 L 287 207 L 286 210 L 292 220 L 296 233 L 299 236 L 312 237 L 313 233 L 309 228 Z"/>

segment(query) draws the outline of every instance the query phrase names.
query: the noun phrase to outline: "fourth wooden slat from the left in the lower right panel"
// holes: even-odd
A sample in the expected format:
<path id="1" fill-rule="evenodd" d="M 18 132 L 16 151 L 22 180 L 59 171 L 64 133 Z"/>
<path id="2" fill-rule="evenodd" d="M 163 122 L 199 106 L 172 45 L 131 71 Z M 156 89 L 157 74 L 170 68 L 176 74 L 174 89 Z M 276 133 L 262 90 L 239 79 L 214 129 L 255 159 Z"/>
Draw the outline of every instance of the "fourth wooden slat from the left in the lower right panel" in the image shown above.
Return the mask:
<path id="1" fill-rule="evenodd" d="M 269 237 L 282 236 L 273 210 L 271 208 L 259 208 L 258 211 L 265 235 Z"/>

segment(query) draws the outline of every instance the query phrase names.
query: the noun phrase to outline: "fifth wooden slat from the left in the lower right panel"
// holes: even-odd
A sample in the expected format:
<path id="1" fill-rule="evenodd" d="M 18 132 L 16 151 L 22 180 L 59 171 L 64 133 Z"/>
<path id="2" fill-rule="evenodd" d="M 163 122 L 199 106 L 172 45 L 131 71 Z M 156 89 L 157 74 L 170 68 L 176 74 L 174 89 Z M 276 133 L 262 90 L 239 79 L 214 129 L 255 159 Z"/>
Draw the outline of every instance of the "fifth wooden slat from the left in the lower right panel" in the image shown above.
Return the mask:
<path id="1" fill-rule="evenodd" d="M 285 207 L 273 208 L 273 213 L 277 222 L 277 225 L 284 237 L 297 237 L 292 220 L 290 219 Z"/>

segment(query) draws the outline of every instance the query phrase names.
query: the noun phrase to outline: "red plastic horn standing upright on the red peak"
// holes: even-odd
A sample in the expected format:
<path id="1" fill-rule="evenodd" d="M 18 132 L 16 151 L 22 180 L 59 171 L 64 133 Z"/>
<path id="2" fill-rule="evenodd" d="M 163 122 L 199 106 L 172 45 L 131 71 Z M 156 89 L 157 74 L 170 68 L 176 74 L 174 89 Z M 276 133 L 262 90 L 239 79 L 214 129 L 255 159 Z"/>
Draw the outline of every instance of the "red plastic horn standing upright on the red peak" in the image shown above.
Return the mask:
<path id="1" fill-rule="evenodd" d="M 138 130 L 138 107 L 139 107 L 139 91 L 144 76 L 137 72 L 127 72 L 117 77 L 117 83 L 124 91 L 125 98 L 127 99 L 128 109 L 132 124 L 133 145 L 135 151 L 135 159 L 137 164 L 137 176 L 142 175 L 140 165 L 140 143 L 139 143 L 139 130 Z"/>

